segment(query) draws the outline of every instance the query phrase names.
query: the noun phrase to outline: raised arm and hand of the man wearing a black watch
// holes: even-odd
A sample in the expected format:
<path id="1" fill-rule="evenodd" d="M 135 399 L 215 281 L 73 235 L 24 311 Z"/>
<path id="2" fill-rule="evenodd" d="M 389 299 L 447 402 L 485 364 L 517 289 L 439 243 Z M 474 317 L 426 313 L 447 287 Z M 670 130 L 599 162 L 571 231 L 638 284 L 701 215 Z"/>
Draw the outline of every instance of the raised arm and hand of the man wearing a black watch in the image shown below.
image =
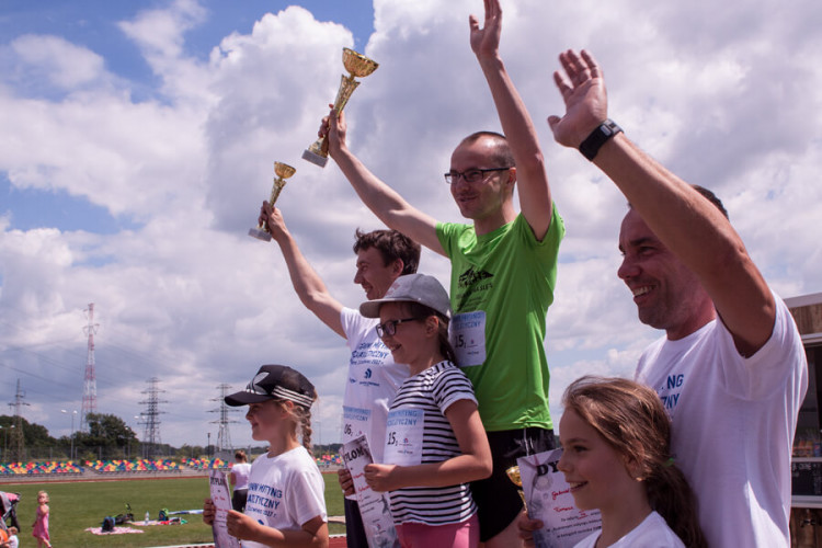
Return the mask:
<path id="1" fill-rule="evenodd" d="M 555 81 L 566 115 L 548 124 L 561 145 L 579 148 L 607 115 L 603 73 L 585 50 L 560 55 L 564 75 Z M 641 151 L 625 134 L 600 148 L 593 162 L 630 202 L 657 237 L 699 278 L 717 312 L 750 355 L 770 336 L 775 321 L 773 295 L 737 231 L 692 185 Z"/>

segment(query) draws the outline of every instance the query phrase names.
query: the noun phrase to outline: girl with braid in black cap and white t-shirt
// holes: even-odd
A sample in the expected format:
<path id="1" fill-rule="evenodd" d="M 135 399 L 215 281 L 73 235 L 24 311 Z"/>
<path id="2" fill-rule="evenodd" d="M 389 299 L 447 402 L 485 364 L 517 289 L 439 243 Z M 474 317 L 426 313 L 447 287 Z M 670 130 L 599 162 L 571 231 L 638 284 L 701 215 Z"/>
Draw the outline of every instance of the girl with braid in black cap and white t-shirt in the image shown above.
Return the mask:
<path id="1" fill-rule="evenodd" d="M 285 365 L 263 365 L 246 390 L 226 397 L 229 406 L 249 406 L 251 437 L 270 444 L 251 465 L 246 513 L 226 516 L 228 533 L 243 548 L 328 547 L 326 486 L 310 454 L 316 399 L 313 385 Z M 203 521 L 212 525 L 215 514 L 207 499 Z"/>

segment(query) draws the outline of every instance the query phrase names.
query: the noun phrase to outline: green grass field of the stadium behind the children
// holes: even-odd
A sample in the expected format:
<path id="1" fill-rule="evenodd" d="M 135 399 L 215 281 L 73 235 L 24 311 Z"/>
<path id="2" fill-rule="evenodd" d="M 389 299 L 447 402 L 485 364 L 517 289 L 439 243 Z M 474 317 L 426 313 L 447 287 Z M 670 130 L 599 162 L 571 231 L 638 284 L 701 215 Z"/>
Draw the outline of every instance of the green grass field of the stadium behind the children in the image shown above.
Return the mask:
<path id="1" fill-rule="evenodd" d="M 343 499 L 336 473 L 324 473 L 328 514 L 343 515 Z M 49 535 L 56 548 L 172 546 L 212 541 L 212 528 L 199 515 L 182 515 L 182 525 L 133 526 L 142 534 L 92 535 L 85 529 L 100 527 L 103 517 L 125 513 L 132 505 L 134 518 L 141 522 L 146 511 L 157 520 L 161 509 L 169 511 L 203 507 L 208 496 L 207 478 L 139 479 L 122 481 L 78 481 L 68 483 L 0 483 L 0 491 L 21 494 L 18 504 L 21 546 L 36 546 L 32 538 L 37 491 L 50 498 Z M 330 524 L 331 534 L 345 532 L 339 524 Z"/>

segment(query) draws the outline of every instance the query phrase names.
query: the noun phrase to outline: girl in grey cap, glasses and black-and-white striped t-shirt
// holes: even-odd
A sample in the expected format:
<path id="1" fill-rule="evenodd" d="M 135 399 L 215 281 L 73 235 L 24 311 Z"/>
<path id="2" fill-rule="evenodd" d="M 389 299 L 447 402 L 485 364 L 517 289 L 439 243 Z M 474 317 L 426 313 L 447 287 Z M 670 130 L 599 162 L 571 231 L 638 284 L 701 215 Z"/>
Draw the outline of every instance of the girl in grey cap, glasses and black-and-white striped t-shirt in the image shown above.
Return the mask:
<path id="1" fill-rule="evenodd" d="M 391 491 L 403 547 L 479 545 L 468 482 L 491 473 L 491 449 L 471 383 L 454 364 L 448 294 L 424 274 L 400 276 L 381 299 L 359 307 L 411 376 L 388 413 L 385 464 L 365 467 L 375 491 Z"/>

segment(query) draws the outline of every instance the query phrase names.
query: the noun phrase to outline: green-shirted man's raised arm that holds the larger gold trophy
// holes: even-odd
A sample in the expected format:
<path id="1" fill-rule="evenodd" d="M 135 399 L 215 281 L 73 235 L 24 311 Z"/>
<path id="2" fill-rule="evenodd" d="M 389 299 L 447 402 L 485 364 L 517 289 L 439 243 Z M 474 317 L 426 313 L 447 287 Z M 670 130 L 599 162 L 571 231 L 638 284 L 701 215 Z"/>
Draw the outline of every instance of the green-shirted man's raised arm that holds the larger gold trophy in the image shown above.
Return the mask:
<path id="1" fill-rule="evenodd" d="M 445 250 L 436 237 L 436 221 L 433 217 L 412 207 L 393 189 L 388 186 L 372 173 L 345 144 L 345 113 L 334 110 L 323 119 L 320 136 L 328 134 L 329 155 L 334 159 L 340 170 L 356 191 L 359 199 L 385 222 L 392 228 L 416 240 L 430 250 L 445 255 Z"/>

